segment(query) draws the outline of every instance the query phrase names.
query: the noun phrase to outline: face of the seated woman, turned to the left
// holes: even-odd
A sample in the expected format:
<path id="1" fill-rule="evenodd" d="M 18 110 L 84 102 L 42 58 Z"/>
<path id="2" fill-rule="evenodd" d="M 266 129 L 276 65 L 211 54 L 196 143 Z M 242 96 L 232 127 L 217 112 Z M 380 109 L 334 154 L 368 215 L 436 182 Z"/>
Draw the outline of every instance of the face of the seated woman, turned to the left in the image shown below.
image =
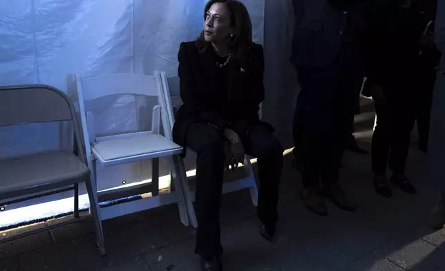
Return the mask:
<path id="1" fill-rule="evenodd" d="M 224 41 L 232 33 L 230 12 L 225 3 L 214 3 L 205 15 L 204 38 L 205 41 Z"/>

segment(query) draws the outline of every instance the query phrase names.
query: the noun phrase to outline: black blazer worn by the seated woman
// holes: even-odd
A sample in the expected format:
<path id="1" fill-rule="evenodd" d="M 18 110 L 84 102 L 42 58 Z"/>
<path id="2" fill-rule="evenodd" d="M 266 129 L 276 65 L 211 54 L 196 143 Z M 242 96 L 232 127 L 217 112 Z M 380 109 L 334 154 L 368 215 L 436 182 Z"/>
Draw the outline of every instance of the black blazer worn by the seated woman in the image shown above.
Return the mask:
<path id="1" fill-rule="evenodd" d="M 196 41 L 184 42 L 178 53 L 180 95 L 184 103 L 176 116 L 173 140 L 185 146 L 187 129 L 194 122 L 211 125 L 219 133 L 225 128 L 236 131 L 242 138 L 249 128 L 263 125 L 273 128 L 258 118 L 259 104 L 264 100 L 263 46 L 254 44 L 248 61 L 241 63 L 231 59 L 227 64 L 227 90 L 218 93 L 220 68 L 216 65 L 216 53 L 209 46 L 204 52 L 196 47 Z M 220 91 L 219 91 L 220 92 Z M 223 100 L 225 99 L 225 100 Z M 227 112 L 221 112 L 221 103 L 227 104 Z"/>

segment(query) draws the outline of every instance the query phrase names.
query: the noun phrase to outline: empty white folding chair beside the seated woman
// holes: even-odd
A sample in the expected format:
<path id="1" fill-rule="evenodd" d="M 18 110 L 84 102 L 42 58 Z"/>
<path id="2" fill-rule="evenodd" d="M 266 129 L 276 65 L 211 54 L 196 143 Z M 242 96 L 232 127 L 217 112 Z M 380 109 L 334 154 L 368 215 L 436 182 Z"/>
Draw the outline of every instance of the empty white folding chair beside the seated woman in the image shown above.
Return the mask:
<path id="1" fill-rule="evenodd" d="M 152 184 L 154 184 L 155 187 L 154 190 L 152 190 L 152 196 L 102 207 L 102 220 L 177 203 L 181 221 L 184 225 L 188 226 L 187 203 L 184 199 L 181 183 L 182 174 L 180 174 L 180 167 L 178 167 L 177 162 L 178 158 L 176 158 L 178 154 L 182 153 L 182 147 L 171 140 L 168 113 L 164 96 L 162 95 L 160 74 L 158 72 L 155 72 L 153 76 L 111 74 L 82 79 L 79 75 L 76 75 L 76 82 L 84 142 L 89 142 L 89 144 L 86 144 L 86 153 L 88 167 L 90 167 L 92 172 L 93 185 L 96 187 L 95 193 L 97 193 L 97 163 L 101 167 L 111 167 L 151 159 L 153 165 Z M 158 105 L 153 107 L 151 131 L 97 137 L 95 134 L 93 113 L 91 111 L 85 111 L 84 102 L 94 102 L 97 98 L 109 95 L 127 94 L 157 98 Z M 160 135 L 161 116 L 162 127 L 164 131 L 167 131 L 165 136 Z M 169 158 L 175 189 L 170 193 L 158 195 L 158 158 L 161 157 Z M 191 204 L 191 202 L 189 204 Z"/>

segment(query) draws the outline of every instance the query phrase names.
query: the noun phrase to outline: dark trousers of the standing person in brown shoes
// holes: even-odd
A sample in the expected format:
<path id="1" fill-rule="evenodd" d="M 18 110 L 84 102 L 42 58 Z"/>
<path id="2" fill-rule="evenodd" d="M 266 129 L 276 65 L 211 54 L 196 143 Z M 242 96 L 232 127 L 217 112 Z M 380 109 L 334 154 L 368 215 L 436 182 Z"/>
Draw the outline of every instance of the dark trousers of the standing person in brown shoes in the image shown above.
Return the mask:
<path id="1" fill-rule="evenodd" d="M 343 44 L 332 64 L 296 66 L 301 92 L 294 115 L 294 157 L 304 187 L 336 183 L 363 83 L 363 62 L 354 44 Z"/>

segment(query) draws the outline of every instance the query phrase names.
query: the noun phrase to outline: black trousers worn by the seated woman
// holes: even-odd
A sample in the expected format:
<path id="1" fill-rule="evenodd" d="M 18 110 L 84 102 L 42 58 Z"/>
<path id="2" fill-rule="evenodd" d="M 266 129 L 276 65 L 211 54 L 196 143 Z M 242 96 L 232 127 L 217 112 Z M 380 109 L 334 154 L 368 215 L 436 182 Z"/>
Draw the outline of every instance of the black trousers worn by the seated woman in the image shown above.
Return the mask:
<path id="1" fill-rule="evenodd" d="M 196 151 L 197 254 L 223 253 L 220 243 L 220 196 L 223 189 L 225 138 L 209 124 L 195 123 L 187 131 L 187 147 Z M 260 186 L 258 218 L 262 223 L 278 220 L 278 183 L 283 167 L 283 147 L 264 127 L 251 128 L 243 138 L 247 154 L 258 158 Z"/>

